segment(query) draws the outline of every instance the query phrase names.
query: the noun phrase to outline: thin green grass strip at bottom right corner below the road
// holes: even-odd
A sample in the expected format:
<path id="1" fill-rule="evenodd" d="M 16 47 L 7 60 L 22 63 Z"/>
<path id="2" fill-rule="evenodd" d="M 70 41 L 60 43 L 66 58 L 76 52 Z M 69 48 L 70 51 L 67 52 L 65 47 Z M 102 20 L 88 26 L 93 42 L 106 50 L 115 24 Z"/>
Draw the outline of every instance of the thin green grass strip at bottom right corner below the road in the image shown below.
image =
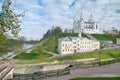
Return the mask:
<path id="1" fill-rule="evenodd" d="M 74 78 L 70 80 L 120 80 L 120 77 Z"/>

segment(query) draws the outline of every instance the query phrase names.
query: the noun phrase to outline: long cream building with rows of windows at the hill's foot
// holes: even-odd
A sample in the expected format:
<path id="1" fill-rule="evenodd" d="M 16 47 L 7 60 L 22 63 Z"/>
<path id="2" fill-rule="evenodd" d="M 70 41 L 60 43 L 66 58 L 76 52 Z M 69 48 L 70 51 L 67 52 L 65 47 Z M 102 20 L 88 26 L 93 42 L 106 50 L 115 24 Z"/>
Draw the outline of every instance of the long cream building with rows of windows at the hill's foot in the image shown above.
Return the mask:
<path id="1" fill-rule="evenodd" d="M 64 37 L 58 40 L 58 52 L 60 54 L 73 54 L 100 49 L 100 42 L 84 37 Z"/>

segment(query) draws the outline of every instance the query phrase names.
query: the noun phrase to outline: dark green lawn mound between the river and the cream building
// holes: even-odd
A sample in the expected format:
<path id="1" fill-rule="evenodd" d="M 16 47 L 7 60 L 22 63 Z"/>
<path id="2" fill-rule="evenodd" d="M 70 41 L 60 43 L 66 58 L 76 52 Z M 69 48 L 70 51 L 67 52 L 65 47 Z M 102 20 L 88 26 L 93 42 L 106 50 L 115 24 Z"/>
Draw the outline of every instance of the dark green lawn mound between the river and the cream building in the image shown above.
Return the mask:
<path id="1" fill-rule="evenodd" d="M 31 59 L 42 59 L 51 57 L 51 54 L 47 53 L 39 53 L 36 50 L 32 50 L 30 53 L 21 53 L 14 57 L 14 59 L 23 59 L 23 60 L 31 60 Z"/>

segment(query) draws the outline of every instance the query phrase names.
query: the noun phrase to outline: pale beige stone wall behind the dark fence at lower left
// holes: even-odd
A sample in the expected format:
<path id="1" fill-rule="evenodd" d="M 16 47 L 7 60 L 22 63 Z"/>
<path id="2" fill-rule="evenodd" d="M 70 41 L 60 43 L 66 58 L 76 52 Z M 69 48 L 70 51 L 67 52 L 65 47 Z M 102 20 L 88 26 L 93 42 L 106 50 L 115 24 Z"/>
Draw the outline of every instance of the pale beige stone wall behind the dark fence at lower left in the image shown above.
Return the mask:
<path id="1" fill-rule="evenodd" d="M 69 64 L 47 64 L 47 65 L 16 65 L 14 74 L 32 74 L 39 71 L 52 71 L 64 69 Z"/>

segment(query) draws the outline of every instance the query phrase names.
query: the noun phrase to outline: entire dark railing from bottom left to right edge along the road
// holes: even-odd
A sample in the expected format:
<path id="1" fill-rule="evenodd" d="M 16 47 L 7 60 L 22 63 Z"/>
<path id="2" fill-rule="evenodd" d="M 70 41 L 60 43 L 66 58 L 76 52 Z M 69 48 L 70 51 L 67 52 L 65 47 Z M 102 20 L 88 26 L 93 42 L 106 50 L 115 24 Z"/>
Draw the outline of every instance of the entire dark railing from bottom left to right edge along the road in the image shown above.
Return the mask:
<path id="1" fill-rule="evenodd" d="M 34 74 L 14 74 L 13 80 L 40 80 L 40 79 L 50 78 L 53 76 L 61 76 L 65 74 L 70 74 L 71 69 L 98 67 L 98 66 L 113 64 L 117 62 L 120 62 L 120 58 L 107 60 L 107 61 L 96 60 L 90 63 L 76 62 L 62 70 L 56 70 L 56 71 L 50 71 L 50 72 L 35 72 Z"/>

